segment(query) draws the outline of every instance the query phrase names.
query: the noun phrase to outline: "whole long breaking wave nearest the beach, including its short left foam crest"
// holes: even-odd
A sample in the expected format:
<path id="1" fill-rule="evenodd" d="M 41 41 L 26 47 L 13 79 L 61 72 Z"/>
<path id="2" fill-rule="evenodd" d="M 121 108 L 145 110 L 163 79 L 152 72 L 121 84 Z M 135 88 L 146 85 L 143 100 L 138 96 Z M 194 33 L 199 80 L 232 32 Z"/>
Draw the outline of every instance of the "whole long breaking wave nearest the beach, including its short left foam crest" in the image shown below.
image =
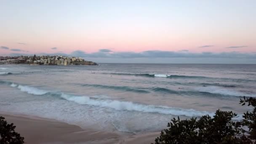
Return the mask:
<path id="1" fill-rule="evenodd" d="M 21 91 L 24 91 L 33 95 L 50 94 L 52 96 L 60 96 L 60 98 L 62 99 L 65 99 L 67 101 L 73 101 L 77 104 L 91 105 L 95 107 L 107 107 L 107 108 L 115 109 L 118 111 L 150 112 L 150 113 L 160 113 L 164 115 L 183 115 L 187 117 L 213 115 L 213 113 L 211 112 L 196 111 L 194 109 L 181 109 L 181 108 L 175 108 L 175 107 L 136 104 L 131 101 L 117 101 L 117 100 L 111 100 L 111 99 L 101 99 L 99 97 L 75 96 L 75 95 L 69 95 L 65 93 L 53 93 L 51 91 L 40 90 L 35 87 L 18 85 L 15 83 L 11 83 L 10 86 L 19 88 Z"/>

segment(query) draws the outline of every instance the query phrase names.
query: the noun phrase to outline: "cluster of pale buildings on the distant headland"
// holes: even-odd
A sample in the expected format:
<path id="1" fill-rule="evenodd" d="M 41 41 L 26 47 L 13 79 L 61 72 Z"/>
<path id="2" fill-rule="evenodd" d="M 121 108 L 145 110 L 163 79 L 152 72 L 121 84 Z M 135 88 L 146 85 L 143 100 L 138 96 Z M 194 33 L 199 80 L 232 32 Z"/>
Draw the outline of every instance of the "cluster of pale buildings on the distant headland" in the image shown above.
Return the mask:
<path id="1" fill-rule="evenodd" d="M 30 65 L 98 65 L 85 61 L 80 57 L 68 56 L 0 56 L 0 64 L 30 64 Z"/>

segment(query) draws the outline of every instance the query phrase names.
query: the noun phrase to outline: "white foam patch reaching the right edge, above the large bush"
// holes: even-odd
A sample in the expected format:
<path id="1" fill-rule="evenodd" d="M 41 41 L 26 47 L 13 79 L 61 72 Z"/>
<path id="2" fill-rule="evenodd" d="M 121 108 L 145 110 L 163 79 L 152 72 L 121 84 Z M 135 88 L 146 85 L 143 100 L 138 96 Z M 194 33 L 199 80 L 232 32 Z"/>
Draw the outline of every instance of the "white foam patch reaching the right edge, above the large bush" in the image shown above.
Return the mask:
<path id="1" fill-rule="evenodd" d="M 208 86 L 203 88 L 197 88 L 197 91 L 208 92 L 208 93 L 219 93 L 223 95 L 229 96 L 248 96 L 248 97 L 255 97 L 253 94 L 241 93 L 238 91 L 230 91 L 229 89 L 219 88 L 216 86 Z"/>

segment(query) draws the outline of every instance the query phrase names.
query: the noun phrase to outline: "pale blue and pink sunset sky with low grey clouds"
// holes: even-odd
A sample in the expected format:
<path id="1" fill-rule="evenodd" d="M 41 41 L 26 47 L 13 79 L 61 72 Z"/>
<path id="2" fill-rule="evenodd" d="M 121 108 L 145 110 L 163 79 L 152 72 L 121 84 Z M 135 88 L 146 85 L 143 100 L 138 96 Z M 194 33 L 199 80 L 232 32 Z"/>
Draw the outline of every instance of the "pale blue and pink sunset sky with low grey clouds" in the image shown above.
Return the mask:
<path id="1" fill-rule="evenodd" d="M 256 64 L 256 0 L 1 0 L 0 56 Z"/>

